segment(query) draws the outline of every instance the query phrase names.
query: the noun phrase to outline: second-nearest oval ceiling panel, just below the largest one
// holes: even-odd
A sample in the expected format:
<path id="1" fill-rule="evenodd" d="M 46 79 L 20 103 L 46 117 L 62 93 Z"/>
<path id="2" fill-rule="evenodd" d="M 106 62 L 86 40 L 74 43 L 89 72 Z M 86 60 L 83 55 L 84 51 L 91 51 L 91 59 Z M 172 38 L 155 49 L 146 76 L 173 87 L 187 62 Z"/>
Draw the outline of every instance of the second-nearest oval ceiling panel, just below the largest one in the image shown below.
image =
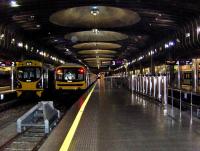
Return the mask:
<path id="1" fill-rule="evenodd" d="M 73 32 L 65 35 L 65 39 L 71 40 L 72 42 L 102 42 L 102 41 L 120 41 L 127 39 L 126 34 L 122 34 L 114 31 L 104 31 L 104 30 L 88 30 Z"/>

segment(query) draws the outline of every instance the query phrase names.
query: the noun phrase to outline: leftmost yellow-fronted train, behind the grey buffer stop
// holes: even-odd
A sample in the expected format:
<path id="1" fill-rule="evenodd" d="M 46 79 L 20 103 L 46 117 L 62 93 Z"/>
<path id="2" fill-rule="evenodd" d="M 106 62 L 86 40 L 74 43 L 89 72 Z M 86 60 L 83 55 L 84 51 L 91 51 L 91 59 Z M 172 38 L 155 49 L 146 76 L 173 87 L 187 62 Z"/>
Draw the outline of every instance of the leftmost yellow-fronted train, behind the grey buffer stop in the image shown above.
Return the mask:
<path id="1" fill-rule="evenodd" d="M 42 62 L 36 60 L 24 60 L 16 62 L 15 89 L 17 96 L 35 94 L 42 96 L 47 88 L 48 76 Z"/>

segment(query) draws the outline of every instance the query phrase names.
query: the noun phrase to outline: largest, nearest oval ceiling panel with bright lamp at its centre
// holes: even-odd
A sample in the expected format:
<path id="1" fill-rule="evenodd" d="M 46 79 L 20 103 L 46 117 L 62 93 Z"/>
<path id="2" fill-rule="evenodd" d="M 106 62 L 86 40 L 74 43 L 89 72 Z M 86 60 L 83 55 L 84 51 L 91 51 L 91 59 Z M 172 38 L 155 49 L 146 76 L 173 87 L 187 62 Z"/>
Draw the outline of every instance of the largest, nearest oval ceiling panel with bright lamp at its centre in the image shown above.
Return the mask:
<path id="1" fill-rule="evenodd" d="M 140 21 L 137 12 L 110 6 L 81 6 L 53 13 L 51 23 L 64 27 L 113 28 L 136 24 Z"/>

